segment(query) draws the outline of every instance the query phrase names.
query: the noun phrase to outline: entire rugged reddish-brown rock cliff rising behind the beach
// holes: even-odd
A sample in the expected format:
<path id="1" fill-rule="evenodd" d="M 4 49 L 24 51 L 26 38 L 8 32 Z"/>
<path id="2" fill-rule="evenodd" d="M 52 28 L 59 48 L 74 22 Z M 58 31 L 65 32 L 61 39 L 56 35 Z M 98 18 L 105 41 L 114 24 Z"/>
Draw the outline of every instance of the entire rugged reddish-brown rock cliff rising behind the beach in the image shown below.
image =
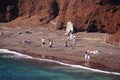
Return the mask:
<path id="1" fill-rule="evenodd" d="M 52 24 L 56 29 L 64 29 L 72 21 L 76 31 L 119 35 L 120 0 L 0 0 L 0 22 L 11 20 Z M 111 37 L 120 41 L 120 36 Z M 107 42 L 112 42 L 111 37 Z"/>

